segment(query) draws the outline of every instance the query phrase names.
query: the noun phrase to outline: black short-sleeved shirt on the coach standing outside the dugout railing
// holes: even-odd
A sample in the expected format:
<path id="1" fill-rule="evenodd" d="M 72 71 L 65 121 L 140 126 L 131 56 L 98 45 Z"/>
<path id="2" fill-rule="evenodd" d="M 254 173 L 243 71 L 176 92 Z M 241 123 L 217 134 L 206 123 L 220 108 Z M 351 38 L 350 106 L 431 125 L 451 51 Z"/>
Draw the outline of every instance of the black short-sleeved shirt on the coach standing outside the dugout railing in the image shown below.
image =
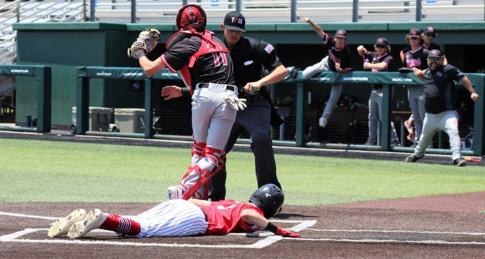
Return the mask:
<path id="1" fill-rule="evenodd" d="M 424 73 L 424 107 L 427 113 L 439 114 L 456 109 L 456 89 L 453 80 L 460 81 L 465 75 L 452 65 Z"/>

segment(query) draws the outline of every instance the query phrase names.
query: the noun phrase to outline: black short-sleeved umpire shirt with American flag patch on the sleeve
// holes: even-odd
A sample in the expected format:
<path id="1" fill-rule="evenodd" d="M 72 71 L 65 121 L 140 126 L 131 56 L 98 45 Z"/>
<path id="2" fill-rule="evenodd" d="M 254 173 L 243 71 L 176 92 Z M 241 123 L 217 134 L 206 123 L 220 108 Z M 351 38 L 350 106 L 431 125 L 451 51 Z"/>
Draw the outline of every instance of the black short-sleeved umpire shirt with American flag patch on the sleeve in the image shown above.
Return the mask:
<path id="1" fill-rule="evenodd" d="M 227 47 L 225 40 L 224 43 Z M 274 47 L 262 40 L 242 36 L 229 51 L 237 86 L 244 87 L 249 82 L 256 82 L 265 77 L 265 68 L 273 71 L 282 65 Z"/>

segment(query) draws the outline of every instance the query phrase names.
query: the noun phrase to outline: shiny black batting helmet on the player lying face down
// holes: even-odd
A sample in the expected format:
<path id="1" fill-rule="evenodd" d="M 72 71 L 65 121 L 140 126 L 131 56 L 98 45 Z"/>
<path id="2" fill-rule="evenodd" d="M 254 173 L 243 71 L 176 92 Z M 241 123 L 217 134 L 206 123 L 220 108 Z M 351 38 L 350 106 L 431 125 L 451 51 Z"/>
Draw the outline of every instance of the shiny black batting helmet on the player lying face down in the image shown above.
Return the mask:
<path id="1" fill-rule="evenodd" d="M 283 192 L 274 184 L 261 186 L 249 199 L 249 202 L 255 204 L 264 213 L 266 219 L 273 217 L 281 209 L 283 201 Z"/>

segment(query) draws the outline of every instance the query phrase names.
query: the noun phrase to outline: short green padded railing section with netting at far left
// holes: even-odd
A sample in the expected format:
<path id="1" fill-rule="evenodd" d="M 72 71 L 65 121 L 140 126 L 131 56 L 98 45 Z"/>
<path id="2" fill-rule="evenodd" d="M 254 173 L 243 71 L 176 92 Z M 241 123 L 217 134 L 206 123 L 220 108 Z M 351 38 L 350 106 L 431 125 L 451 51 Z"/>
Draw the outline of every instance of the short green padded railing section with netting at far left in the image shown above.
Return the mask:
<path id="1" fill-rule="evenodd" d="M 16 114 L 15 126 L 0 126 L 0 130 L 11 131 L 31 131 L 31 132 L 51 132 L 51 67 L 50 66 L 26 66 L 26 65 L 0 65 L 0 75 L 16 76 L 16 77 L 31 77 L 34 79 L 34 85 L 37 88 L 34 91 L 37 96 L 37 105 L 35 107 L 36 114 L 29 115 L 30 120 L 20 125 L 19 122 L 26 120 L 19 118 L 19 114 Z M 20 80 L 22 81 L 22 80 Z M 23 82 L 16 82 L 16 90 L 23 90 L 26 84 Z M 17 100 L 16 110 L 19 110 L 21 106 L 29 105 L 28 102 L 21 102 Z M 35 117 L 36 116 L 36 117 Z M 23 116 L 22 116 L 23 117 Z M 36 120 L 36 123 L 33 121 Z M 19 125 L 18 125 L 19 124 Z"/>

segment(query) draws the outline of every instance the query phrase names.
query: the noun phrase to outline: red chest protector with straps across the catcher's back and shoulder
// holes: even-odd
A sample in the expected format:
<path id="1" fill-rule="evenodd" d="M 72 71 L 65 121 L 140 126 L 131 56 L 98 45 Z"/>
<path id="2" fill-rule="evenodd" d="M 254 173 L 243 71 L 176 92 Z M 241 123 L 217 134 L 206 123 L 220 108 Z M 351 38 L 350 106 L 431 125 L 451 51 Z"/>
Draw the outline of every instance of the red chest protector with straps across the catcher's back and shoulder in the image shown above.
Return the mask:
<path id="1" fill-rule="evenodd" d="M 196 63 L 197 58 L 202 55 L 206 55 L 209 53 L 214 53 L 214 52 L 226 52 L 229 53 L 229 50 L 219 44 L 218 42 L 215 42 L 212 40 L 212 35 L 215 33 L 209 30 L 205 30 L 204 33 L 200 33 L 196 31 L 195 29 L 191 29 L 188 31 L 178 31 L 177 33 L 173 34 L 172 37 L 170 37 L 167 41 L 167 44 L 165 45 L 165 48 L 169 50 L 173 45 L 176 43 L 180 42 L 184 38 L 188 38 L 190 36 L 199 36 L 202 39 L 202 44 L 199 50 L 197 50 L 196 53 L 194 53 L 190 58 L 187 66 L 182 67 L 178 73 L 180 77 L 182 78 L 183 83 L 185 86 L 189 87 L 190 89 L 190 94 L 193 94 L 193 88 L 192 88 L 192 82 L 191 82 L 191 77 L 190 77 L 190 71 L 188 70 L 189 68 L 193 67 L 193 64 Z"/>

